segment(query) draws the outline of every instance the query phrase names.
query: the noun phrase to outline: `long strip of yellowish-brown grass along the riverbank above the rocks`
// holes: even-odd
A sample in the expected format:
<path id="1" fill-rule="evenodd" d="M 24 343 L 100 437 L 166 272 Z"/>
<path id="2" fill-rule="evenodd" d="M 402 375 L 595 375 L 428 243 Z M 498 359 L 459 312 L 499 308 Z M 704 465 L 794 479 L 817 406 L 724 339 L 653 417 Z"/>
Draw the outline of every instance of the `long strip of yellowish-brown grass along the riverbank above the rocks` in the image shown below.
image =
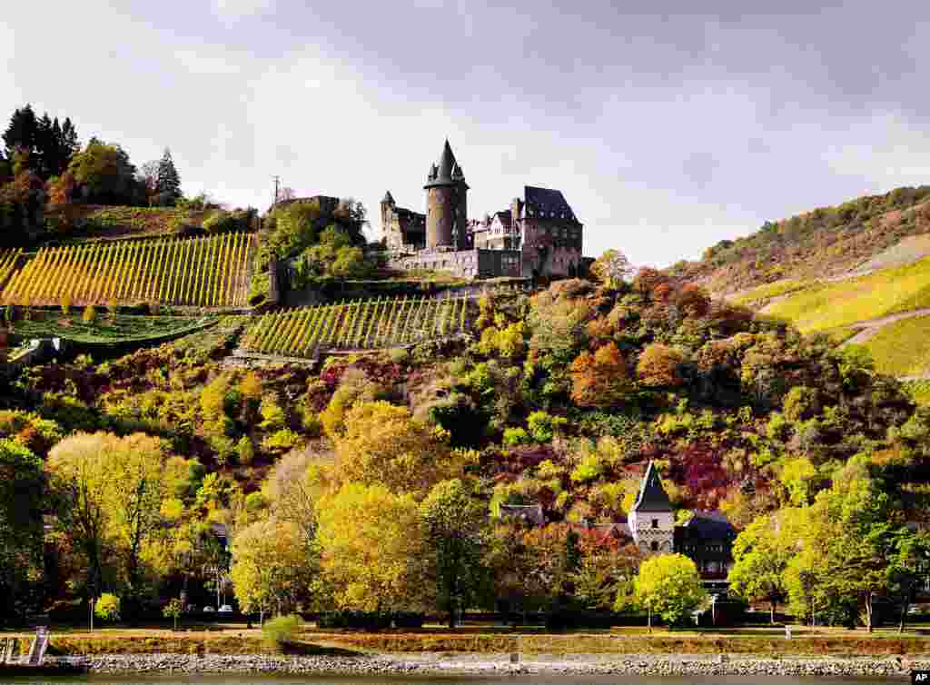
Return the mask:
<path id="1" fill-rule="evenodd" d="M 259 630 L 227 629 L 185 632 L 170 630 L 107 628 L 53 632 L 49 653 L 60 655 L 105 653 L 211 653 L 259 654 L 279 651 L 262 638 Z M 785 640 L 780 628 L 708 630 L 661 630 L 647 635 L 644 628 L 565 633 L 513 633 L 485 626 L 449 632 L 429 628 L 417 631 L 390 630 L 378 633 L 304 630 L 285 651 L 298 654 L 358 654 L 376 652 L 471 652 L 528 654 L 671 654 L 740 653 L 798 655 L 922 654 L 930 651 L 930 639 L 901 636 L 892 629 L 869 635 L 863 630 L 796 627 L 795 637 Z M 28 638 L 23 634 L 22 638 Z M 27 641 L 27 640 L 22 640 Z M 20 643 L 20 648 L 24 646 Z M 28 649 L 28 644 L 25 646 Z"/>

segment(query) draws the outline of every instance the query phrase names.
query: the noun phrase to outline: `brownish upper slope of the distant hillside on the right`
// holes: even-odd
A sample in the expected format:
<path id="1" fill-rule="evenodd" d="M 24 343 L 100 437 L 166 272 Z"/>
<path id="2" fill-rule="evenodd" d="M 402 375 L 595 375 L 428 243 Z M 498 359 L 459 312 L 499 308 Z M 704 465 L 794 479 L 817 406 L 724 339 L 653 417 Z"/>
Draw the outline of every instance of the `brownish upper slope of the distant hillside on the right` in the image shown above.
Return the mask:
<path id="1" fill-rule="evenodd" d="M 722 240 L 708 248 L 700 261 L 679 262 L 670 272 L 713 293 L 732 294 L 783 279 L 831 278 L 865 270 L 870 260 L 902 238 L 926 233 L 930 233 L 930 186 L 897 188 L 766 222 L 756 233 Z M 907 254 L 897 254 L 897 263 L 927 255 L 926 248 L 910 244 L 909 249 L 899 250 Z M 874 266 L 884 265 L 888 263 Z"/>

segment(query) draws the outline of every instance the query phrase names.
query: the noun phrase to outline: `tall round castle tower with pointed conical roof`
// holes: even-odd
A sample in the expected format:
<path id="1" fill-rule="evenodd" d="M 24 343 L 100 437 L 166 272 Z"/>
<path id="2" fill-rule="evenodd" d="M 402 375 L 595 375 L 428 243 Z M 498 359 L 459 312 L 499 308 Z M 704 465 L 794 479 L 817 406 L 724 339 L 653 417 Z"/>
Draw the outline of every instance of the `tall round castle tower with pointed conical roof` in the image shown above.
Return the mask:
<path id="1" fill-rule="evenodd" d="M 430 168 L 423 189 L 426 191 L 426 247 L 464 249 L 468 184 L 449 141 L 445 141 L 439 164 Z"/>

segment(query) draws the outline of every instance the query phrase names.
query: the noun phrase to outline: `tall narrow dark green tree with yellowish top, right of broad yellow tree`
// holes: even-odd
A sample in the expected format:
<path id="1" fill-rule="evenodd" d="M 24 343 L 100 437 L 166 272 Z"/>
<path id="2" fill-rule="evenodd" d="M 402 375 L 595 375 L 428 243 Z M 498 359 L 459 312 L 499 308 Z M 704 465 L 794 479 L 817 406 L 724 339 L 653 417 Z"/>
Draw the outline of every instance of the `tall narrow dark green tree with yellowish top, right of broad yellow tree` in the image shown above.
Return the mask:
<path id="1" fill-rule="evenodd" d="M 461 480 L 444 480 L 420 504 L 427 550 L 427 577 L 435 583 L 437 606 L 449 612 L 471 606 L 485 580 L 481 563 L 487 507 Z"/>

